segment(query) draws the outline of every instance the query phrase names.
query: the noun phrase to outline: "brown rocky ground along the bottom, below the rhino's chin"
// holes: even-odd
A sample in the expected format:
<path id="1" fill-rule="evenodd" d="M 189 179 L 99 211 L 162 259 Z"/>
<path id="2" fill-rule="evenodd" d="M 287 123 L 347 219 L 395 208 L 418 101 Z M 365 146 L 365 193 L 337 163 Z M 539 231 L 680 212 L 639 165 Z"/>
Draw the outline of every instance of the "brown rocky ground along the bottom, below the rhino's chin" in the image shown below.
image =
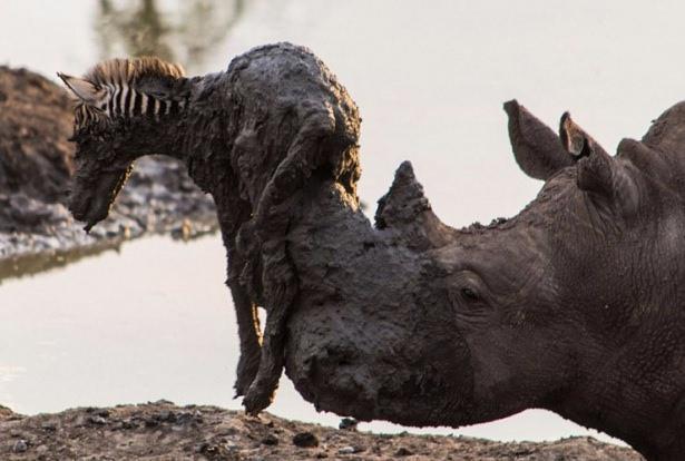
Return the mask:
<path id="1" fill-rule="evenodd" d="M 2 460 L 643 460 L 591 438 L 499 443 L 385 435 L 170 402 L 21 416 L 0 410 Z"/>

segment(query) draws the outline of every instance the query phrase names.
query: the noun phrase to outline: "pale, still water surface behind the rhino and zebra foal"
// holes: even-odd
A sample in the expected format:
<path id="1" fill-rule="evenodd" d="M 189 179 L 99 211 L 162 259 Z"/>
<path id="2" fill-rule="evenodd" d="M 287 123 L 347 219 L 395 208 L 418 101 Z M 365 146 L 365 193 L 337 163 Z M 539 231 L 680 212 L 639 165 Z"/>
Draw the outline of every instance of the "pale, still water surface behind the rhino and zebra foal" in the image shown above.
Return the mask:
<path id="1" fill-rule="evenodd" d="M 411 159 L 453 225 L 510 216 L 540 184 L 510 155 L 502 101 L 556 125 L 570 109 L 608 150 L 685 95 L 685 6 L 666 1 L 26 0 L 0 4 L 0 62 L 80 72 L 155 52 L 189 73 L 277 40 L 307 45 L 339 75 L 363 122 L 362 198 Z M 30 27 L 27 27 L 30 24 Z M 0 403 L 36 413 L 160 398 L 229 400 L 236 333 L 218 238 L 153 238 L 0 286 Z M 278 414 L 334 423 L 283 383 Z M 384 424 L 374 429 L 389 430 Z M 451 432 L 451 431 L 450 431 Z M 500 440 L 587 433 L 529 411 L 459 433 Z"/>

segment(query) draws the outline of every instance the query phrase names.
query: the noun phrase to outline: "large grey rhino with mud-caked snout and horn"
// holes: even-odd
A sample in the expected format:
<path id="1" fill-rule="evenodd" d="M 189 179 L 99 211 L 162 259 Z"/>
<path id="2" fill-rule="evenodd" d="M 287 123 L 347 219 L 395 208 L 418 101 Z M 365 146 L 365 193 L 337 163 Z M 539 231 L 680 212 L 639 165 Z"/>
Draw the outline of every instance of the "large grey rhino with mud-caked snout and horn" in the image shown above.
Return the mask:
<path id="1" fill-rule="evenodd" d="M 681 455 L 685 104 L 616 156 L 568 114 L 557 135 L 505 109 L 518 164 L 545 180 L 513 218 L 446 226 L 408 164 L 375 229 L 339 210 L 344 192 L 311 200 L 292 233 L 288 375 L 363 420 L 460 426 L 541 408 Z"/>

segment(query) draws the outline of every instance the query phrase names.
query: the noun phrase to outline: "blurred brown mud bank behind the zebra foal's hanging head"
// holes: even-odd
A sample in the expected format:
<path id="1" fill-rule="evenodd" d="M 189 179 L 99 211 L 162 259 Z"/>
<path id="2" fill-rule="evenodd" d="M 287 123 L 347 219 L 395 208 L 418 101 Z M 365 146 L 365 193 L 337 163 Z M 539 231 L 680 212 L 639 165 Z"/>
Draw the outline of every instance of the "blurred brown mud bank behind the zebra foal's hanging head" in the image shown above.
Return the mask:
<path id="1" fill-rule="evenodd" d="M 66 207 L 74 173 L 71 104 L 45 77 L 0 66 L 0 279 L 146 234 L 193 238 L 217 228 L 212 198 L 185 165 L 150 156 L 136 164 L 109 218 L 86 234 Z"/>

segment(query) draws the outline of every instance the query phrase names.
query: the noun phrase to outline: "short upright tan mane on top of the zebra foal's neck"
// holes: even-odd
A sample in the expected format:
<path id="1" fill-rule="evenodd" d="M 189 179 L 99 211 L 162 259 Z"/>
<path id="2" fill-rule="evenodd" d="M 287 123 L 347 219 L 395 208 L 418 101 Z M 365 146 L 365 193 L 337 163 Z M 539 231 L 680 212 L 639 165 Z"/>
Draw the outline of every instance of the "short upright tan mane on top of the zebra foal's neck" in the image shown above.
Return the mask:
<path id="1" fill-rule="evenodd" d="M 133 59 L 109 59 L 98 62 L 85 78 L 100 86 L 135 86 L 143 79 L 177 79 L 185 76 L 178 63 L 163 61 L 156 57 Z"/>

